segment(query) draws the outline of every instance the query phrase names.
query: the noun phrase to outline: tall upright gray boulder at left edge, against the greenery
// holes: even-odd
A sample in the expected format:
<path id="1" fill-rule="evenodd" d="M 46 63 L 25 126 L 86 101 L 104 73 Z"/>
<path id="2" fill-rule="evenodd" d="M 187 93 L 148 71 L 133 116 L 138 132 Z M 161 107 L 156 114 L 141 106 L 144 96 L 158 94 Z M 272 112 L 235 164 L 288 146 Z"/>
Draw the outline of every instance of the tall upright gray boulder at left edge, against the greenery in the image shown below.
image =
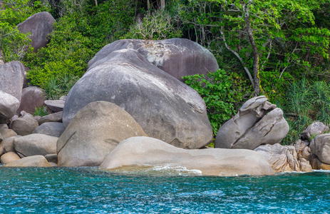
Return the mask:
<path id="1" fill-rule="evenodd" d="M 0 91 L 9 93 L 21 101 L 24 71 L 24 65 L 20 61 L 11 61 L 0 66 Z"/>

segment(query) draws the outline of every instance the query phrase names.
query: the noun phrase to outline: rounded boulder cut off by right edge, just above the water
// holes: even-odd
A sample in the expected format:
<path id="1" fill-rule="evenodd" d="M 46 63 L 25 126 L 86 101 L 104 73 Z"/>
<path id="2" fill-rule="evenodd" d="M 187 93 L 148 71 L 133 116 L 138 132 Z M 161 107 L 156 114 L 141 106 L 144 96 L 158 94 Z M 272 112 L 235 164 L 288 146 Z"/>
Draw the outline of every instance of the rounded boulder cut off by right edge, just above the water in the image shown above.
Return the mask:
<path id="1" fill-rule="evenodd" d="M 319 161 L 330 164 L 330 133 L 316 136 L 309 147 L 311 154 L 319 158 Z"/>

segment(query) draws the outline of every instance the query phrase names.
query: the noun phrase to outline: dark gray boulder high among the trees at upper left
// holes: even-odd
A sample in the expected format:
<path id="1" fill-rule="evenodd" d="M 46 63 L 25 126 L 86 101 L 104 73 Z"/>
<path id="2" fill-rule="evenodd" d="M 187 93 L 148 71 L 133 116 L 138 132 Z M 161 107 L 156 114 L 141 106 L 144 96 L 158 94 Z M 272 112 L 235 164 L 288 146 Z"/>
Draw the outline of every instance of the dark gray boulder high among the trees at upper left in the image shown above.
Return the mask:
<path id="1" fill-rule="evenodd" d="M 53 24 L 55 19 L 48 12 L 40 12 L 33 14 L 21 24 L 17 25 L 17 29 L 21 33 L 29 35 L 31 39 L 31 46 L 36 52 L 38 49 L 45 47 L 48 44 L 47 35 L 53 31 Z"/>

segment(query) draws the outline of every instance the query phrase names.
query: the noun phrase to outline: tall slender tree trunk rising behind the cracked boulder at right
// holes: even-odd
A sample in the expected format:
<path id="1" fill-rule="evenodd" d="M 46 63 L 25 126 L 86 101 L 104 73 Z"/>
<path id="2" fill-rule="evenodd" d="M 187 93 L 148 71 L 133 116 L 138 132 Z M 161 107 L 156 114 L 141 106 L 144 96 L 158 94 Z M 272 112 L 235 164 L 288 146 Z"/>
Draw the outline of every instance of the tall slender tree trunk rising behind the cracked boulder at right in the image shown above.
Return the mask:
<path id="1" fill-rule="evenodd" d="M 252 46 L 252 56 L 253 56 L 253 81 L 254 81 L 254 96 L 259 96 L 260 93 L 260 79 L 259 79 L 259 54 L 257 49 L 257 44 L 254 41 L 252 34 L 252 27 L 249 21 L 249 6 L 252 3 L 252 0 L 249 0 L 249 3 L 244 14 L 244 21 L 246 25 L 247 36 L 249 37 L 249 43 Z"/>

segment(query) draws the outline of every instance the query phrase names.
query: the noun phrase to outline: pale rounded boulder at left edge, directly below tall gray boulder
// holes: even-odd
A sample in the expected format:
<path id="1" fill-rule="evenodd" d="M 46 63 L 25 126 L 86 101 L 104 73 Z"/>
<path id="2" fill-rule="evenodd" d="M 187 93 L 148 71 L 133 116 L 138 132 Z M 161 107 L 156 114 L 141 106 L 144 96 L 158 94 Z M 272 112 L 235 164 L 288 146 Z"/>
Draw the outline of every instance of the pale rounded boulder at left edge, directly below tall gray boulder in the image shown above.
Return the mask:
<path id="1" fill-rule="evenodd" d="M 19 100 L 9 93 L 0 90 L 0 123 L 8 122 L 18 108 Z"/>

